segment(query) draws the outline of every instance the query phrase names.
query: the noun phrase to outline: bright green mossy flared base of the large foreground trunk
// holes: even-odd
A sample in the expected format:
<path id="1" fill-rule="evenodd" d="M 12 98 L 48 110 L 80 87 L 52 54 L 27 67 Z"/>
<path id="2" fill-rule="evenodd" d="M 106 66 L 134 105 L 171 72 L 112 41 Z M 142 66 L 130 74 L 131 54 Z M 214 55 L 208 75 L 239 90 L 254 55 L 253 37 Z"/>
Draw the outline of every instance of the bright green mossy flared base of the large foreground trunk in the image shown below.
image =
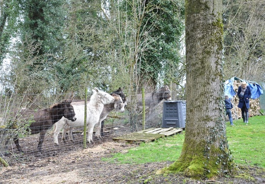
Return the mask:
<path id="1" fill-rule="evenodd" d="M 160 173 L 181 172 L 186 176 L 200 179 L 221 176 L 224 173 L 230 174 L 233 171 L 233 159 L 228 149 L 220 148 L 204 149 L 205 143 L 197 144 L 197 147 L 190 149 L 190 146 L 183 147 L 183 153 L 178 160 Z M 208 152 L 208 153 L 207 153 Z M 207 153 L 207 154 L 205 154 Z M 206 156 L 208 155 L 208 156 Z"/>

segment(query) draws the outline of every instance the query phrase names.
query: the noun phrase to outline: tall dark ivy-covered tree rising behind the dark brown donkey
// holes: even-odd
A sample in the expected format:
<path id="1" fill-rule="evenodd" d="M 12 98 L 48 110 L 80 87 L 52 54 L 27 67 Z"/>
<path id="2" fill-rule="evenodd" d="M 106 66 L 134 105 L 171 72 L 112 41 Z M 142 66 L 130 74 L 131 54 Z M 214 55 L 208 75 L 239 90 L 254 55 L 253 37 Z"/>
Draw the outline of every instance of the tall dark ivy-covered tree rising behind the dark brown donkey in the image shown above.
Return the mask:
<path id="1" fill-rule="evenodd" d="M 12 67 L 15 71 L 23 71 L 23 76 L 13 74 L 13 83 L 17 77 L 21 80 L 30 80 L 16 86 L 17 93 L 39 94 L 43 90 L 54 87 L 55 58 L 61 53 L 60 44 L 63 40 L 65 12 L 64 1 L 24 1 L 20 0 L 21 11 L 19 27 L 14 43 L 16 49 L 12 53 Z M 19 57 L 19 58 L 16 58 Z M 13 71 L 14 72 L 14 71 Z"/>

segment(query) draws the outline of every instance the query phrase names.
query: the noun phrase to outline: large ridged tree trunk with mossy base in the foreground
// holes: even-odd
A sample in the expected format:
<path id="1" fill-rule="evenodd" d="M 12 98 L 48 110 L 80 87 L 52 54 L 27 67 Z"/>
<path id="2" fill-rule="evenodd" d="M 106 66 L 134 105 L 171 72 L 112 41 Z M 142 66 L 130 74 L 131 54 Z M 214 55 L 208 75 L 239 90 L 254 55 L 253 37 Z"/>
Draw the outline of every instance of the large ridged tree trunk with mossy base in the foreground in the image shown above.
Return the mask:
<path id="1" fill-rule="evenodd" d="M 231 174 L 222 66 L 222 1 L 186 0 L 186 131 L 179 159 L 164 171 L 193 178 Z"/>

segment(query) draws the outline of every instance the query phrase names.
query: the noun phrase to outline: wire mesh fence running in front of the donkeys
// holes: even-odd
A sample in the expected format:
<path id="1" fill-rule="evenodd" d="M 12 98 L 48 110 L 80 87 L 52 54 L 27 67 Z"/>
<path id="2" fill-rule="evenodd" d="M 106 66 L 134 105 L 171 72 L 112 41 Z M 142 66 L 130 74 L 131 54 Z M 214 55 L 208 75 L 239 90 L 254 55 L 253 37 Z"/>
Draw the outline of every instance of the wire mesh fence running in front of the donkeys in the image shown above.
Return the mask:
<path id="1" fill-rule="evenodd" d="M 148 89 L 147 91 L 152 90 Z M 121 91 L 118 92 L 117 93 L 121 95 Z M 143 104 L 140 98 L 142 94 L 128 94 L 129 91 L 124 89 L 123 95 L 126 96 L 127 103 L 124 112 L 117 111 L 114 109 L 114 107 L 109 107 L 111 109 L 108 109 L 109 112 L 107 114 L 107 118 L 104 121 L 104 126 L 102 129 L 103 131 L 101 130 L 100 133 L 101 137 L 98 139 L 98 137 L 95 135 L 94 129 L 92 134 L 93 142 L 86 144 L 88 149 L 95 145 L 101 144 L 102 142 L 112 140 L 114 137 L 121 136 L 125 133 L 140 131 L 147 128 L 161 127 L 163 102 L 170 99 L 183 100 L 183 97 L 179 96 L 178 93 L 175 93 L 174 91 L 173 93 L 170 93 L 170 99 L 166 97 L 165 90 L 153 90 L 151 93 L 145 93 L 144 98 L 146 98 L 146 113 L 145 118 L 143 119 Z M 37 112 L 51 109 L 55 104 L 61 103 L 63 100 L 67 100 L 71 95 L 72 94 L 60 94 L 53 96 L 50 94 L 2 95 L 0 99 L 0 156 L 7 160 L 10 165 L 12 165 L 16 162 L 35 162 L 42 157 L 57 155 L 61 156 L 67 154 L 69 151 L 83 149 L 84 127 L 75 127 L 75 125 L 73 125 L 71 127 L 72 131 L 68 131 L 69 126 L 68 124 L 65 124 L 63 128 L 60 128 L 59 132 L 56 134 L 56 124 L 55 126 L 51 125 L 50 123 L 48 123 L 49 125 L 43 125 L 39 119 L 36 121 L 36 119 L 32 117 L 34 114 L 35 116 L 40 116 Z M 88 94 L 88 101 L 90 100 L 91 95 L 92 91 L 90 94 Z M 84 99 L 81 99 L 81 101 L 82 100 L 84 101 Z M 74 101 L 71 104 L 74 104 Z M 82 108 L 77 109 L 75 105 L 73 105 L 73 107 L 76 114 L 80 113 L 77 110 L 82 111 Z M 84 107 L 84 105 L 82 107 Z M 27 118 L 25 119 L 24 116 L 24 119 L 21 119 L 20 121 L 20 118 L 18 118 L 17 114 L 15 114 L 18 109 L 22 109 L 24 111 L 31 110 L 33 115 L 27 114 Z M 58 109 L 53 109 L 52 111 L 53 113 L 58 113 Z M 58 114 L 53 114 L 53 116 L 58 116 Z M 58 117 L 56 118 L 58 119 Z M 57 120 L 56 118 L 52 119 Z M 50 117 L 48 119 L 50 121 Z M 39 123 L 40 125 L 35 125 L 35 129 L 27 131 L 29 126 L 34 123 Z M 54 123 L 56 122 L 54 121 L 53 124 Z M 46 132 L 44 132 L 44 138 L 40 136 L 43 134 L 43 130 L 41 130 L 43 127 L 46 130 Z M 36 131 L 37 133 L 34 134 L 32 131 Z M 65 139 L 63 140 L 62 138 L 64 137 L 64 132 L 66 134 Z M 73 135 L 73 140 L 71 139 L 70 135 Z M 16 140 L 16 137 L 19 140 L 19 144 L 23 152 L 19 152 L 16 144 L 14 143 L 14 139 Z M 58 139 L 58 144 L 56 144 L 56 139 Z M 39 144 L 42 141 L 43 144 L 41 151 L 39 151 Z"/>

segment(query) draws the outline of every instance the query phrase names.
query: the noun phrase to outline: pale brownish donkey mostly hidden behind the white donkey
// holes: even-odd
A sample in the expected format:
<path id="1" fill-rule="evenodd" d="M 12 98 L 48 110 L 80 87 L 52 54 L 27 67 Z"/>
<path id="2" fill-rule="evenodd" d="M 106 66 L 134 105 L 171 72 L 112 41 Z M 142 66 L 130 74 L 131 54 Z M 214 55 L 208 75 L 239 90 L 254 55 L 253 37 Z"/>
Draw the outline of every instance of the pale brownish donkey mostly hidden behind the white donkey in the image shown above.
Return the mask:
<path id="1" fill-rule="evenodd" d="M 108 114 L 112 111 L 112 110 L 116 110 L 119 112 L 124 112 L 124 103 L 123 103 L 123 99 L 121 96 L 116 95 L 116 94 L 111 94 L 111 96 L 114 97 L 114 102 L 110 103 L 110 104 L 105 104 L 103 111 L 100 114 L 100 120 L 97 124 L 95 124 L 95 136 L 100 139 L 101 137 L 101 122 L 104 121 Z M 84 107 L 84 105 L 82 105 L 82 103 L 84 102 L 77 102 L 80 104 L 80 106 Z M 75 102 L 72 104 L 75 107 Z M 84 126 L 84 123 L 81 125 L 81 127 Z M 77 127 L 76 123 L 66 123 L 64 128 L 63 128 L 63 135 L 62 135 L 62 140 L 65 141 L 65 135 L 66 135 L 66 131 L 68 131 L 68 136 L 69 136 L 69 140 L 73 141 L 73 128 Z"/>

